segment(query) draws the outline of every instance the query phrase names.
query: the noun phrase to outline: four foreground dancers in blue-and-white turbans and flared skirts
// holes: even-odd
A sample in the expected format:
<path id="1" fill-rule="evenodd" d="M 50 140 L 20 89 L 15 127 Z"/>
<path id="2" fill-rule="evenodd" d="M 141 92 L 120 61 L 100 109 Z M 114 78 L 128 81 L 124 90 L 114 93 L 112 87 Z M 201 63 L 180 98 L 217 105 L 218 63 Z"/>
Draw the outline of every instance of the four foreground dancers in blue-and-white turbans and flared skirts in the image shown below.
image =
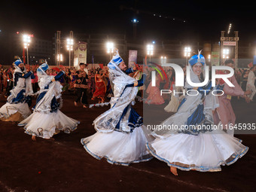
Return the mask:
<path id="1" fill-rule="evenodd" d="M 156 157 L 166 162 L 174 175 L 178 175 L 177 169 L 221 171 L 221 165 L 236 162 L 248 151 L 248 147 L 242 145 L 241 140 L 223 130 L 148 130 L 143 125 L 143 118 L 132 107 L 138 87 L 144 84 L 145 74 L 139 80 L 130 77 L 129 74 L 135 69 L 127 69 L 118 50 L 115 52 L 108 63 L 109 81 L 114 95 L 110 100 L 111 108 L 93 121 L 96 133 L 81 139 L 81 144 L 93 157 L 98 160 L 105 157 L 108 163 L 123 166 Z M 80 122 L 59 111 L 62 105 L 62 86 L 59 79 L 65 74 L 64 70 L 53 77 L 49 74 L 47 63 L 43 63 L 37 69 L 40 90 L 38 93 L 33 93 L 31 85 L 33 73 L 29 66 L 26 69 L 20 59 L 14 64 L 14 88 L 8 96 L 7 103 L 0 108 L 1 120 L 20 122 L 18 126 L 24 126 L 25 133 L 31 135 L 32 140 L 36 140 L 36 137 L 51 139 L 60 131 L 65 133 L 74 131 Z M 194 83 L 203 81 L 203 69 L 206 67 L 203 55 L 199 53 L 192 56 L 189 65 L 191 81 Z M 187 124 L 197 127 L 202 124 L 215 124 L 217 121 L 219 121 L 217 123 L 230 122 L 230 119 L 226 121 L 222 119 L 221 110 L 214 112 L 223 104 L 221 101 L 218 102 L 218 96 L 209 94 L 215 89 L 211 85 L 211 81 L 206 85 L 209 90 L 207 94 L 200 92 L 205 87 L 197 87 L 200 94 L 184 96 L 177 112 L 161 124 L 175 124 L 178 127 Z M 185 87 L 194 89 L 187 83 Z M 220 87 L 227 89 L 226 84 Z M 235 92 L 230 90 L 227 94 L 235 94 Z M 35 94 L 38 94 L 38 97 L 31 114 L 29 105 L 31 105 L 31 97 Z M 224 98 L 222 102 L 227 101 Z"/>

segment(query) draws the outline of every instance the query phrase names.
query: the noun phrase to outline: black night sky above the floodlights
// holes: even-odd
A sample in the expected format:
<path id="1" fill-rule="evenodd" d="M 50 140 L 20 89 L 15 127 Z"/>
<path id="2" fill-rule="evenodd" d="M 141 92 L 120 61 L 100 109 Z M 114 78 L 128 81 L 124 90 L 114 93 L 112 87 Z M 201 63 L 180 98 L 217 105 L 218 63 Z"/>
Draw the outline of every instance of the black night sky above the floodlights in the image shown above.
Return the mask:
<path id="1" fill-rule="evenodd" d="M 57 30 L 72 30 L 74 34 L 116 33 L 132 37 L 131 20 L 136 17 L 140 38 L 218 41 L 221 30 L 227 31 L 232 23 L 231 30 L 239 31 L 240 41 L 254 43 L 254 9 L 251 2 L 245 1 L 9 0 L 1 2 L 0 34 L 28 32 L 50 40 Z"/>

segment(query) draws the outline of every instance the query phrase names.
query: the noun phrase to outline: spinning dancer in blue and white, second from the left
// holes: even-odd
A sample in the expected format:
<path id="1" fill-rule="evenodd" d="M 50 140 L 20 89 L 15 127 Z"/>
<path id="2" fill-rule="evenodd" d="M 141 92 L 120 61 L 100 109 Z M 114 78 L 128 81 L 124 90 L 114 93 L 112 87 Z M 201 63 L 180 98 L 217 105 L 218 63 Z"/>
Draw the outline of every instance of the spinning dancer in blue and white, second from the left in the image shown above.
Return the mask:
<path id="1" fill-rule="evenodd" d="M 39 66 L 37 74 L 40 94 L 36 100 L 34 112 L 18 126 L 24 126 L 25 133 L 32 135 L 34 141 L 36 136 L 50 139 L 59 131 L 71 133 L 77 128 L 79 121 L 59 111 L 60 104 L 56 100 L 61 99 L 62 85 L 59 79 L 65 72 L 59 72 L 55 77 L 50 76 L 49 66 L 44 63 Z"/>

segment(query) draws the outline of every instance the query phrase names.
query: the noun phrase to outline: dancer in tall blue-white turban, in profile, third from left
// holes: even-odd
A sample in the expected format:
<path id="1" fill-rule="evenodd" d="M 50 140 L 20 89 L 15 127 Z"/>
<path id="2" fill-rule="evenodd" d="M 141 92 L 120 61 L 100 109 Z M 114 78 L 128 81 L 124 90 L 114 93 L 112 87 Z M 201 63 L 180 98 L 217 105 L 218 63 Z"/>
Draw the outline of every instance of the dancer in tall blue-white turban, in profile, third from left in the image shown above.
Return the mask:
<path id="1" fill-rule="evenodd" d="M 130 163 L 151 160 L 145 144 L 149 141 L 144 133 L 142 117 L 131 107 L 143 78 L 136 81 L 126 75 L 123 59 L 118 51 L 108 63 L 109 78 L 114 97 L 111 108 L 93 121 L 97 133 L 81 139 L 85 150 L 96 159 L 105 157 L 108 163 L 128 166 Z"/>

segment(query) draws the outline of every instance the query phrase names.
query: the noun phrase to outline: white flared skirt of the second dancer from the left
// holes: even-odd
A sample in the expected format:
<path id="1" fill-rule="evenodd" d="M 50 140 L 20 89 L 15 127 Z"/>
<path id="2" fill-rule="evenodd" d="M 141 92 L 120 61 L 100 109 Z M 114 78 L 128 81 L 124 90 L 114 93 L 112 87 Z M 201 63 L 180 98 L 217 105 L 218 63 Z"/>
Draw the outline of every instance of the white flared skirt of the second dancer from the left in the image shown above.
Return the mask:
<path id="1" fill-rule="evenodd" d="M 24 126 L 25 133 L 29 135 L 50 139 L 60 131 L 71 133 L 76 130 L 78 123 L 80 123 L 78 120 L 66 116 L 58 109 L 53 113 L 33 112 L 18 126 Z"/>

